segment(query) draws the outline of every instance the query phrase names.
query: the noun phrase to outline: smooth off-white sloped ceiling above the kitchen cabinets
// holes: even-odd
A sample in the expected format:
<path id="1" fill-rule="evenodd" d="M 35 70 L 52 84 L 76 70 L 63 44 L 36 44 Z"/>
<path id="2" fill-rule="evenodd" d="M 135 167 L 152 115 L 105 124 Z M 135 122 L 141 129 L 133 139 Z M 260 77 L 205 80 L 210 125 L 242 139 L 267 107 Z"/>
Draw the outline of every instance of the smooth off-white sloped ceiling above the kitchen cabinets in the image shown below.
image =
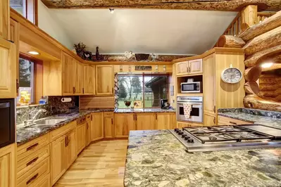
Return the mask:
<path id="1" fill-rule="evenodd" d="M 156 9 L 49 9 L 68 37 L 100 53 L 194 55 L 211 49 L 236 12 Z"/>

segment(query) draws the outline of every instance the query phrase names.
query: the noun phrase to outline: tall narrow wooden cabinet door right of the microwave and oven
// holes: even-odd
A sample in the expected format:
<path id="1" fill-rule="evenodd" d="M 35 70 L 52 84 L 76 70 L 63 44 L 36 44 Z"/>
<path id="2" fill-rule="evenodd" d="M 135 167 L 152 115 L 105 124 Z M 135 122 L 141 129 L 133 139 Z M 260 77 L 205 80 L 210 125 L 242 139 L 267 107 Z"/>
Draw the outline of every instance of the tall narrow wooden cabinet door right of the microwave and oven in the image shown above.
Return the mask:
<path id="1" fill-rule="evenodd" d="M 216 61 L 215 54 L 211 54 L 203 59 L 203 94 L 204 94 L 204 112 L 216 114 Z"/>

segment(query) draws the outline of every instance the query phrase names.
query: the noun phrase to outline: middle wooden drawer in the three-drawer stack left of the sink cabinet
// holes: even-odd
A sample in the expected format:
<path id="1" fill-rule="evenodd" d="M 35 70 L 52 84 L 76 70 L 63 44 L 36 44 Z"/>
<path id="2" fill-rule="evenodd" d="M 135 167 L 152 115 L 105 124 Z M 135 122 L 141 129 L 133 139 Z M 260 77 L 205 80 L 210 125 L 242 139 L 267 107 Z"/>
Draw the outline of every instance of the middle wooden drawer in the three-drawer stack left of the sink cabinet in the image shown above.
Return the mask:
<path id="1" fill-rule="evenodd" d="M 32 167 L 35 167 L 40 162 L 45 160 L 50 155 L 49 145 L 44 146 L 43 148 L 37 150 L 32 155 L 29 155 L 23 160 L 18 161 L 17 177 L 19 178 L 23 174 L 27 173 Z"/>

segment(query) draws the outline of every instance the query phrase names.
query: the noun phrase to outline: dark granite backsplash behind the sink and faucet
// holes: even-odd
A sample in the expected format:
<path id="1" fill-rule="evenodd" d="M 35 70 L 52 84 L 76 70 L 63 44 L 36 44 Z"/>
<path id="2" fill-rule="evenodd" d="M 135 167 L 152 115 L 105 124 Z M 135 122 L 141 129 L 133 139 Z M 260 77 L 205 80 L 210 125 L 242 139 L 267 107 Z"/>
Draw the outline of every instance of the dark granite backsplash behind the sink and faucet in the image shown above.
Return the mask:
<path id="1" fill-rule="evenodd" d="M 67 96 L 72 101 L 63 103 L 61 98 L 63 96 L 48 96 L 48 102 L 45 105 L 31 105 L 27 107 L 16 108 L 16 123 L 22 124 L 25 120 L 29 119 L 30 112 L 39 109 L 45 109 L 37 118 L 48 117 L 50 115 L 59 115 L 61 113 L 76 112 L 79 110 L 79 96 Z"/>

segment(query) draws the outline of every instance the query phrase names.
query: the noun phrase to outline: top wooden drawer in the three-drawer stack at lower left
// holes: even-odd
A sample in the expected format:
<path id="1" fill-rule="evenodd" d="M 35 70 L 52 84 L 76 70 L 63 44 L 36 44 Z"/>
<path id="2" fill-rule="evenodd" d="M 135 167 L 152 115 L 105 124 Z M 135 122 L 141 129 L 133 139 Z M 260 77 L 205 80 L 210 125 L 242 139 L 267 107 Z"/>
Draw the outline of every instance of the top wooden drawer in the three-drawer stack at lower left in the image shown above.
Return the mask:
<path id="1" fill-rule="evenodd" d="M 44 146 L 49 144 L 49 134 L 46 134 L 44 136 L 40 136 L 39 138 L 36 138 L 32 141 L 29 141 L 21 146 L 18 146 L 17 151 L 17 160 L 18 162 L 20 160 L 23 160 L 28 155 L 31 155 L 37 150 L 43 148 Z"/>

